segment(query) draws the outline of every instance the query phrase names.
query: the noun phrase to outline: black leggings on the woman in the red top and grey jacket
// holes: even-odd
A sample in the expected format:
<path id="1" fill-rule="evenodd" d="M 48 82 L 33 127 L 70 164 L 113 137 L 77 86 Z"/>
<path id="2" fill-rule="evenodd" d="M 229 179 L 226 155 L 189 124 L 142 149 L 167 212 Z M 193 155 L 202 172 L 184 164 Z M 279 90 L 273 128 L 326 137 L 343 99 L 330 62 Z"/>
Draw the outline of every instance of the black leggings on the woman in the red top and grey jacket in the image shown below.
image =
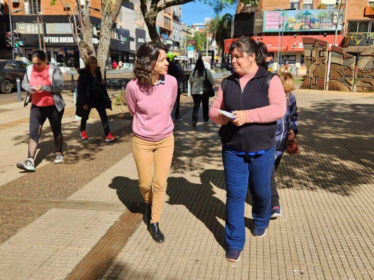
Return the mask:
<path id="1" fill-rule="evenodd" d="M 55 139 L 56 153 L 62 153 L 62 132 L 61 120 L 64 109 L 58 112 L 55 105 L 53 106 L 36 106 L 32 105 L 30 110 L 30 136 L 28 157 L 35 157 L 37 145 L 41 135 L 41 129 L 44 122 L 49 120 Z"/>

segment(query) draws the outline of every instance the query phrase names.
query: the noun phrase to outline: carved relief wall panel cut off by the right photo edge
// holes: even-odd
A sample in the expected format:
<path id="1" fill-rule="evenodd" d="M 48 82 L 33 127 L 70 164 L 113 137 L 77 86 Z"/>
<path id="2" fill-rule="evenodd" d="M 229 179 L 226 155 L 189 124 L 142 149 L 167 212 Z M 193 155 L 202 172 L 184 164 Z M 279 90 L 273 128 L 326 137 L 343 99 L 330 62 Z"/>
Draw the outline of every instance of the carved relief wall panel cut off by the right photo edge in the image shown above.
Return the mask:
<path id="1" fill-rule="evenodd" d="M 374 91 L 374 48 L 367 48 L 360 53 L 357 70 L 356 91 Z"/>

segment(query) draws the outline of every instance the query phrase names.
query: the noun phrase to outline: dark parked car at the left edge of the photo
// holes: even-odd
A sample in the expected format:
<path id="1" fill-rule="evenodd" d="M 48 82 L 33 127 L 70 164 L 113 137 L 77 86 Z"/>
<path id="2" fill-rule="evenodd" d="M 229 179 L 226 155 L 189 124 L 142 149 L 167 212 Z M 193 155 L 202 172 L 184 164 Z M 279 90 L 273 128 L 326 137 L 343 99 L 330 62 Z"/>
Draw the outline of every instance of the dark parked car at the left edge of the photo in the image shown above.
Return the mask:
<path id="1" fill-rule="evenodd" d="M 17 78 L 22 82 L 26 73 L 27 63 L 19 60 L 0 61 L 0 92 L 11 93 L 17 88 Z"/>

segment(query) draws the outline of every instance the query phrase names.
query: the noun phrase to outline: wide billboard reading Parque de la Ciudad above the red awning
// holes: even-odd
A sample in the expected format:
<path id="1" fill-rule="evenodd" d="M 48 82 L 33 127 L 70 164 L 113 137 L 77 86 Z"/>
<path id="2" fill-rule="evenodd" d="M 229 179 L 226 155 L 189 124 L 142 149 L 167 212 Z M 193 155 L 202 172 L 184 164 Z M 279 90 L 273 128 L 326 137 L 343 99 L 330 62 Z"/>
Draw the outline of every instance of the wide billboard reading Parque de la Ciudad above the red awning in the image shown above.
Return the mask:
<path id="1" fill-rule="evenodd" d="M 341 30 L 342 18 L 343 9 L 340 9 L 337 30 Z M 263 32 L 279 32 L 282 28 L 285 32 L 335 31 L 336 22 L 336 9 L 263 12 Z"/>

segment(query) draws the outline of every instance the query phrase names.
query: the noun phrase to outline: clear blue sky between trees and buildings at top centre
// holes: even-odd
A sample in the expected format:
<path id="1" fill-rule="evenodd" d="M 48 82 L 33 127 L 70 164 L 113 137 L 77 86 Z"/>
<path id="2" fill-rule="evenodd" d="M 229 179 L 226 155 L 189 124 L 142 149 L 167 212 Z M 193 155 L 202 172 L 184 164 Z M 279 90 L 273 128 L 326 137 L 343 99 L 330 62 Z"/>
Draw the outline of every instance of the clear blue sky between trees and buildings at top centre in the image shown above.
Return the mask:
<path id="1" fill-rule="evenodd" d="M 225 9 L 221 14 L 235 14 L 236 5 L 231 9 Z M 187 25 L 192 23 L 203 23 L 204 18 L 214 18 L 213 8 L 198 0 L 182 5 L 182 21 Z"/>

